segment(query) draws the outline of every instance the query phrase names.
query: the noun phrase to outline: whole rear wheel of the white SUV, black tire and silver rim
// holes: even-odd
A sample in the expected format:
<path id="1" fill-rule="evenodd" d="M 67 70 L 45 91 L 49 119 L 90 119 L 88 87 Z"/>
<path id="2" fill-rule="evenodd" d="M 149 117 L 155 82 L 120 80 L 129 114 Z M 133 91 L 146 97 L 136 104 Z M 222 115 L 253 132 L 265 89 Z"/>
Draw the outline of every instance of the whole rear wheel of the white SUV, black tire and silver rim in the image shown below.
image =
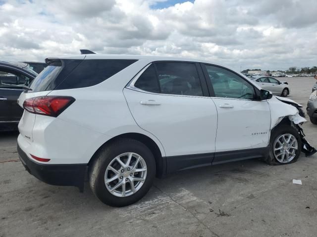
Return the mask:
<path id="1" fill-rule="evenodd" d="M 155 158 L 147 146 L 134 139 L 120 139 L 96 154 L 89 166 L 89 184 L 105 204 L 126 206 L 147 194 L 155 173 Z"/>

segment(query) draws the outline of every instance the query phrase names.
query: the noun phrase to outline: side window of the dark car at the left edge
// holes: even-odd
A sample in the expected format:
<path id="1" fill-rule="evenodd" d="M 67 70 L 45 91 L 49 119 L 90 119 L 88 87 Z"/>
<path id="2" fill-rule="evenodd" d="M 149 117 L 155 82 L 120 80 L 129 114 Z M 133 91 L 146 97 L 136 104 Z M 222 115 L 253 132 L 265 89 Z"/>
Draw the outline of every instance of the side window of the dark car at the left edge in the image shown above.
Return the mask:
<path id="1" fill-rule="evenodd" d="M 0 88 L 24 89 L 31 81 L 20 73 L 0 71 Z"/>

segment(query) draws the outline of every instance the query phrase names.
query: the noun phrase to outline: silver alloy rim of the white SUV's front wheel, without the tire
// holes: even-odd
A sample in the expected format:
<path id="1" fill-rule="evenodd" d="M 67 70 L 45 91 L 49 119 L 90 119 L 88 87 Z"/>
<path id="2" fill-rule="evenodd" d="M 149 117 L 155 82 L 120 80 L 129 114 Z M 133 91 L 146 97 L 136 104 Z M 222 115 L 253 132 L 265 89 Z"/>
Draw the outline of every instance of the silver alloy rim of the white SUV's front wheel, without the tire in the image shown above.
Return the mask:
<path id="1" fill-rule="evenodd" d="M 274 141 L 273 154 L 280 163 L 288 163 L 296 157 L 298 150 L 297 139 L 292 134 L 282 134 Z"/>

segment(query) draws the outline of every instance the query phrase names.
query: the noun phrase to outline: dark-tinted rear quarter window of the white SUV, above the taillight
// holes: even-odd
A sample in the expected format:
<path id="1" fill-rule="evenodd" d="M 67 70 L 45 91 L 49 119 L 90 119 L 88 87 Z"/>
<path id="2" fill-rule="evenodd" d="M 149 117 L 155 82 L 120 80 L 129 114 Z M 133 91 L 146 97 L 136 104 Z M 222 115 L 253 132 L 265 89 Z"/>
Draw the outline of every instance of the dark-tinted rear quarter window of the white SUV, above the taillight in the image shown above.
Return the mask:
<path id="1" fill-rule="evenodd" d="M 137 60 L 83 60 L 55 89 L 72 89 L 97 85 L 125 69 Z"/>

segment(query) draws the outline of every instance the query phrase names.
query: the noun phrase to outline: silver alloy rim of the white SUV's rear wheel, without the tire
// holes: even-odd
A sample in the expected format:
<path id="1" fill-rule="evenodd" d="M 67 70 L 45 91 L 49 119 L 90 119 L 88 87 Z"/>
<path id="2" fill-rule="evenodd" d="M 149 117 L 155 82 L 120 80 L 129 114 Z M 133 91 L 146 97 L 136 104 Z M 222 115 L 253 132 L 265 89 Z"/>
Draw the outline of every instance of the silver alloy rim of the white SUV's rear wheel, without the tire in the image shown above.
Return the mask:
<path id="1" fill-rule="evenodd" d="M 131 196 L 143 186 L 147 171 L 146 162 L 140 155 L 123 153 L 113 158 L 106 168 L 106 188 L 116 197 Z"/>

